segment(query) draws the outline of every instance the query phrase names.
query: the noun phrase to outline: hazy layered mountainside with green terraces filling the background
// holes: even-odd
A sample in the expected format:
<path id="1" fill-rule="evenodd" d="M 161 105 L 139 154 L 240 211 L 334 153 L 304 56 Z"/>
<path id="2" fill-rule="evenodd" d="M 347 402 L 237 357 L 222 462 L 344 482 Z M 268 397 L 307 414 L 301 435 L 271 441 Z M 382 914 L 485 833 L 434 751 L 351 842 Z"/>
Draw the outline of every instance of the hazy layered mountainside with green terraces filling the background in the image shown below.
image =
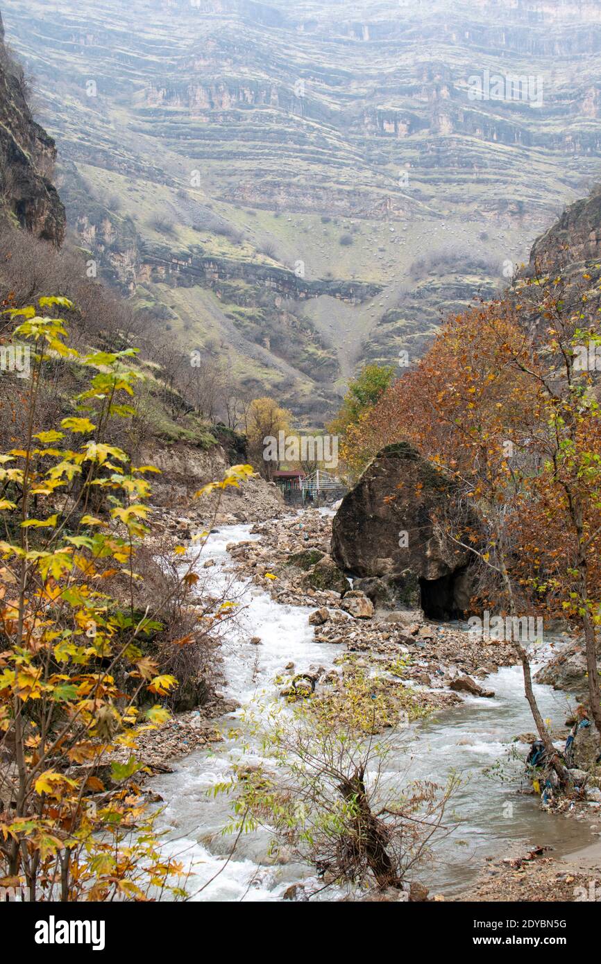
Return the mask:
<path id="1" fill-rule="evenodd" d="M 505 283 L 597 172 L 593 3 L 5 7 L 100 273 L 308 423 Z M 527 97 L 473 98 L 507 74 Z"/>

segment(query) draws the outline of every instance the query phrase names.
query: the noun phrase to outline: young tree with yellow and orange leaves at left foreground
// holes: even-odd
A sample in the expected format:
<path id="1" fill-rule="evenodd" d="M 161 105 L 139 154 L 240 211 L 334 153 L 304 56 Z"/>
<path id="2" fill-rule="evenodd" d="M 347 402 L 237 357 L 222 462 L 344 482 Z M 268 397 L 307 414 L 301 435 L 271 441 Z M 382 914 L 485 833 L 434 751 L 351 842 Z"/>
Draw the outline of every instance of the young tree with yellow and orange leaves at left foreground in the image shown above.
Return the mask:
<path id="1" fill-rule="evenodd" d="M 155 469 L 107 441 L 112 420 L 132 415 L 140 375 L 133 349 L 68 345 L 57 308 L 73 307 L 41 298 L 12 311 L 32 371 L 24 438 L 0 456 L 0 886 L 32 901 L 184 897 L 136 780 L 137 735 L 169 717 L 162 703 L 178 682 L 146 647 L 171 584 L 142 612 L 133 602 Z M 37 404 L 53 357 L 77 366 L 82 388 L 57 428 L 40 425 Z M 234 467 L 207 488 L 251 472 Z M 181 566 L 182 591 L 197 561 Z"/>

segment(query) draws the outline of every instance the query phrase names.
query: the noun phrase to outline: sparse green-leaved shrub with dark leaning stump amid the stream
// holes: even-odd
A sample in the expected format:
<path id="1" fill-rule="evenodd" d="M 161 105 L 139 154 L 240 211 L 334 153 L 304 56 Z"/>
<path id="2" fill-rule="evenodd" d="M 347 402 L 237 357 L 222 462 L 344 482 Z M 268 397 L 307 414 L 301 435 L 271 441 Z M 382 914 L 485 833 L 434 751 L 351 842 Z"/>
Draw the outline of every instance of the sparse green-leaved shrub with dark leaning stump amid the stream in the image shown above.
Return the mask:
<path id="1" fill-rule="evenodd" d="M 402 751 L 374 737 L 423 715 L 408 687 L 354 669 L 329 692 L 299 687 L 291 708 L 247 713 L 266 765 L 238 768 L 236 780 L 220 788 L 238 791 L 228 829 L 268 828 L 276 851 L 286 846 L 315 868 L 316 890 L 324 883 L 402 888 L 428 858 L 432 839 L 450 832 L 443 821 L 459 781 L 396 786 L 384 774 L 389 757 Z"/>

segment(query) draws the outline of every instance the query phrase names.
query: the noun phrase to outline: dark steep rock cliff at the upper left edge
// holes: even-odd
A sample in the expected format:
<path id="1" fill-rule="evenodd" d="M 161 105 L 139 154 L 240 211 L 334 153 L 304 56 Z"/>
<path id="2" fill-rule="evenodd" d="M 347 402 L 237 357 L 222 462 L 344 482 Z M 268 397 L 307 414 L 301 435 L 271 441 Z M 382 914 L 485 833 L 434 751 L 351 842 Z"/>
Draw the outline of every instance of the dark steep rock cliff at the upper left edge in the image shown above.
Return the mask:
<path id="1" fill-rule="evenodd" d="M 23 73 L 4 43 L 0 15 L 0 209 L 5 219 L 60 245 L 65 208 L 50 181 L 56 147 L 33 120 Z"/>

